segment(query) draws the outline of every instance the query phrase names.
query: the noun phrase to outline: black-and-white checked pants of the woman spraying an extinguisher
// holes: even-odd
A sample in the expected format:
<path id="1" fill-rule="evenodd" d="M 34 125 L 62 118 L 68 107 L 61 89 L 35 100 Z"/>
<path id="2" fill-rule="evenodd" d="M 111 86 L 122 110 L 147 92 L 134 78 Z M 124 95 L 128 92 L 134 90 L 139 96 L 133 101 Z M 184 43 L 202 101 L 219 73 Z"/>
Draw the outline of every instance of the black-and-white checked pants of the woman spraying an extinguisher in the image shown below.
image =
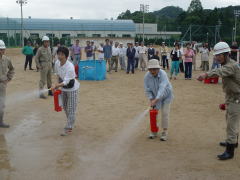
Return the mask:
<path id="1" fill-rule="evenodd" d="M 72 129 L 75 122 L 75 115 L 78 103 L 78 90 L 76 91 L 63 91 L 63 109 L 67 116 L 67 124 L 65 129 Z"/>

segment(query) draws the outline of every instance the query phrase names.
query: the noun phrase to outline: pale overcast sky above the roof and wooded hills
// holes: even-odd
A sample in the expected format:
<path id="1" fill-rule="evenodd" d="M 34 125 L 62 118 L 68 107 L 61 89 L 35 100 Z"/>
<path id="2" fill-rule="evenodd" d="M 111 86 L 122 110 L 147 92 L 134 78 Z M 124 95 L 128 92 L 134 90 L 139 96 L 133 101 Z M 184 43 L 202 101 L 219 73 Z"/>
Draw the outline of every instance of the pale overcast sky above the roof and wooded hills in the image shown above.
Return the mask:
<path id="1" fill-rule="evenodd" d="M 28 0 L 23 16 L 32 18 L 105 19 L 117 18 L 129 9 L 139 10 L 139 4 L 148 4 L 149 11 L 166 6 L 179 6 L 186 10 L 191 0 Z M 201 0 L 204 9 L 240 5 L 240 0 Z M 20 17 L 16 0 L 0 0 L 0 17 Z"/>

